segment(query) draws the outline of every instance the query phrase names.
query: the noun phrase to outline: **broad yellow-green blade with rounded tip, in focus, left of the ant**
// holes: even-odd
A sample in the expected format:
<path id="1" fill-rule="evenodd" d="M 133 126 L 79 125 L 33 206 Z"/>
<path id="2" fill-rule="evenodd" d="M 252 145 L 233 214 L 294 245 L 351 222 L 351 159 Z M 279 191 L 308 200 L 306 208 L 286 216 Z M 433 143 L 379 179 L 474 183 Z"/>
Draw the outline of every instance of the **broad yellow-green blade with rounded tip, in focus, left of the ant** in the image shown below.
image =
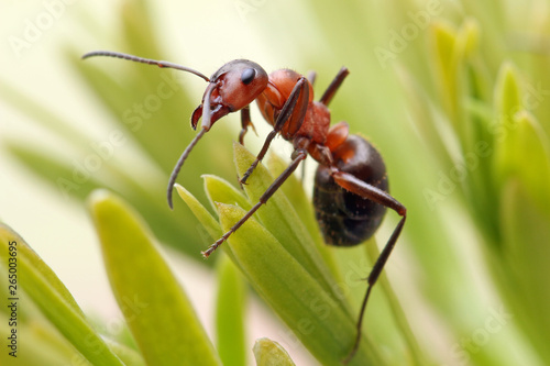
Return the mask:
<path id="1" fill-rule="evenodd" d="M 220 365 L 143 221 L 106 191 L 89 204 L 111 287 L 147 365 Z"/>

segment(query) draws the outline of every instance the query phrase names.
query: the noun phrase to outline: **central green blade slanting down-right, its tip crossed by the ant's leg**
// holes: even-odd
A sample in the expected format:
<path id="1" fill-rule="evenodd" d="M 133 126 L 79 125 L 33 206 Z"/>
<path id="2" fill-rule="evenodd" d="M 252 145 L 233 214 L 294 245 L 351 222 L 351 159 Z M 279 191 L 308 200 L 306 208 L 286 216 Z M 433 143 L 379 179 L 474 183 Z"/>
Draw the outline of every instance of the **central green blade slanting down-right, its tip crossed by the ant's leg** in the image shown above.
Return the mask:
<path id="1" fill-rule="evenodd" d="M 244 211 L 219 204 L 222 228 L 229 230 Z M 341 365 L 353 345 L 355 324 L 285 247 L 254 219 L 229 239 L 235 264 L 254 289 L 323 365 Z M 350 365 L 381 365 L 363 337 Z"/>

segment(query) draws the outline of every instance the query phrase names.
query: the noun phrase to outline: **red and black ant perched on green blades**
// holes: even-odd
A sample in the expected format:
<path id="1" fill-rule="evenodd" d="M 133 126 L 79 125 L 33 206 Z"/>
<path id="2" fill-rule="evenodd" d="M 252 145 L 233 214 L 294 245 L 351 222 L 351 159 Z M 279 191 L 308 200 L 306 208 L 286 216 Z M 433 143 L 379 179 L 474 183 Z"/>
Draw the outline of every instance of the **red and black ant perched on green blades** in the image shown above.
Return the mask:
<path id="1" fill-rule="evenodd" d="M 371 290 L 405 225 L 407 209 L 388 193 L 386 167 L 374 146 L 359 135 L 350 135 L 345 122 L 330 127 L 328 104 L 348 76 L 348 69 L 342 67 L 319 101 L 314 101 L 312 86 L 306 77 L 289 69 L 279 69 L 267 75 L 258 64 L 248 59 L 229 62 L 208 78 L 185 66 L 116 52 L 97 51 L 84 55 L 82 58 L 92 56 L 118 57 L 161 68 L 178 69 L 197 75 L 208 82 L 201 104 L 191 114 L 194 130 L 202 118 L 200 131 L 179 157 L 169 178 L 167 199 L 170 209 L 174 185 L 184 162 L 202 135 L 222 117 L 241 111 L 242 129 L 239 134 L 241 144 L 249 126 L 253 127 L 250 103 L 254 100 L 264 119 L 273 125 L 273 131 L 267 135 L 256 159 L 240 179 L 241 185 L 246 182 L 277 134 L 293 143 L 294 152 L 288 167 L 239 222 L 202 252 L 205 257 L 216 251 L 262 204 L 267 202 L 308 155 L 319 163 L 315 179 L 314 206 L 327 244 L 353 246 L 364 242 L 381 225 L 386 208 L 402 217 L 366 279 L 369 286 L 359 314 L 358 334 L 352 350 L 343 361 L 345 364 L 350 362 L 359 347 L 363 315 Z M 311 74 L 309 79 L 312 81 L 315 74 Z"/>

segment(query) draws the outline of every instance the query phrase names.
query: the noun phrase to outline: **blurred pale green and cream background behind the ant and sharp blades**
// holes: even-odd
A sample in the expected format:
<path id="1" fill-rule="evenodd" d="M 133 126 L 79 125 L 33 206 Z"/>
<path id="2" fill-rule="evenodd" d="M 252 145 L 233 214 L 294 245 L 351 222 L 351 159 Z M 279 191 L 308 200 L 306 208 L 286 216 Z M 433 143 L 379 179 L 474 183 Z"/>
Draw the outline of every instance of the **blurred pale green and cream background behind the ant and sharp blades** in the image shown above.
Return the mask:
<path id="1" fill-rule="evenodd" d="M 426 359 L 550 364 L 548 1 L 0 7 L 0 218 L 85 311 L 110 317 L 99 309 L 113 303 L 82 206 L 94 188 L 122 196 L 170 253 L 185 255 L 183 281 L 207 312 L 211 299 L 193 288 L 204 292 L 196 284 L 210 278 L 215 260 L 200 259 L 208 236 L 188 209 L 178 198 L 174 212 L 165 203 L 167 175 L 194 135 L 189 117 L 204 81 L 117 59 L 81 62 L 84 53 L 119 51 L 206 75 L 234 58 L 267 71 L 316 70 L 317 96 L 345 65 L 351 75 L 332 119 L 380 149 L 392 193 L 408 209 L 387 273 Z M 270 130 L 252 111 L 258 137 L 249 133 L 246 145 L 255 152 Z M 178 181 L 200 200 L 201 174 L 235 181 L 230 152 L 239 130 L 238 115 L 218 122 L 186 163 Z M 292 153 L 282 138 L 273 148 Z M 380 245 L 396 220 L 388 213 Z M 354 253 L 337 255 L 348 264 Z M 386 326 L 382 296 L 373 300 L 373 339 L 389 354 L 404 352 L 395 326 Z"/>

